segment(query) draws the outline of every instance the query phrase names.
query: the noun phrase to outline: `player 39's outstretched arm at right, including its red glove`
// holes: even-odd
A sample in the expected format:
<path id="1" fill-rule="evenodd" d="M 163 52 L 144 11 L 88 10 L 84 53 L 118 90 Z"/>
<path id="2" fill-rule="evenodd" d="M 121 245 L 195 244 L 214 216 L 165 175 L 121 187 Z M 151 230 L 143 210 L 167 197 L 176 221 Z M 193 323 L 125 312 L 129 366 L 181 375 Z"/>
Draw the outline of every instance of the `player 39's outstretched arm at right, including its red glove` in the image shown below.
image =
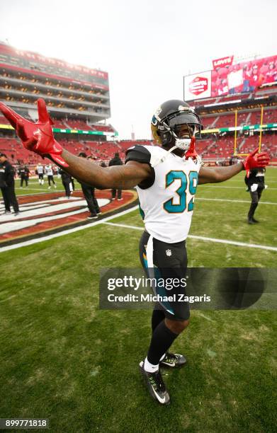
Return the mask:
<path id="1" fill-rule="evenodd" d="M 249 171 L 252 168 L 266 167 L 269 163 L 269 156 L 266 153 L 257 154 L 259 147 L 255 149 L 244 161 L 229 167 L 201 167 L 199 171 L 198 183 L 218 183 L 224 182 L 232 178 L 242 170 L 247 171 L 247 177 L 249 177 Z"/>

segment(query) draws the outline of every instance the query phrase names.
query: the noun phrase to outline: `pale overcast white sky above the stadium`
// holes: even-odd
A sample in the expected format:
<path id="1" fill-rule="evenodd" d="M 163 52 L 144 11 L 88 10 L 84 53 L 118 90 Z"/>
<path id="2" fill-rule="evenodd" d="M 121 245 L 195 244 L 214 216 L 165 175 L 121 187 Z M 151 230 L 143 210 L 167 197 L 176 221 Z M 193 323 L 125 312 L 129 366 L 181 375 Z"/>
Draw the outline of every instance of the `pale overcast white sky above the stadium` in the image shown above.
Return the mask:
<path id="1" fill-rule="evenodd" d="M 0 0 L 0 40 L 109 74 L 120 139 L 150 139 L 183 76 L 234 54 L 277 53 L 276 0 Z"/>

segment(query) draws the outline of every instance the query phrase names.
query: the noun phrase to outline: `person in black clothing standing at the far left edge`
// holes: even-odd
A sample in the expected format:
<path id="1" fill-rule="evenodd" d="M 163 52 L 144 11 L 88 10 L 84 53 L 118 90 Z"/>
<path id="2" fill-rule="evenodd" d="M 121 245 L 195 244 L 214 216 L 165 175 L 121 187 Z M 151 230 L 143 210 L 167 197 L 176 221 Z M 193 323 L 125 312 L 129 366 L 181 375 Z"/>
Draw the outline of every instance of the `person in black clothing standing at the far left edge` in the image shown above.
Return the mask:
<path id="1" fill-rule="evenodd" d="M 19 214 L 19 207 L 14 190 L 14 170 L 5 154 L 0 154 L 0 187 L 5 204 L 4 214 L 10 214 L 12 206 L 16 217 Z"/>

